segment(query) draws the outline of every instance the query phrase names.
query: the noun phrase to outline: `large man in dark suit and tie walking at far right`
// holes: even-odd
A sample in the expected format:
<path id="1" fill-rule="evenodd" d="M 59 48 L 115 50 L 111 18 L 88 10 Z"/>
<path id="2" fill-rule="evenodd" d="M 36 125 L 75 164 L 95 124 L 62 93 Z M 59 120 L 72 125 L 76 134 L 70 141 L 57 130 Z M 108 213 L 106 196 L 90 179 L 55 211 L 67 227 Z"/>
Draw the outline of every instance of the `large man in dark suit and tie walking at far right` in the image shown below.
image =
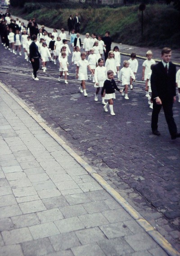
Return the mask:
<path id="1" fill-rule="evenodd" d="M 162 61 L 153 66 L 151 75 L 151 90 L 153 100 L 153 113 L 151 120 L 151 128 L 153 134 L 159 136 L 157 130 L 158 114 L 163 107 L 166 122 L 168 125 L 171 139 L 180 137 L 177 133 L 177 127 L 173 118 L 173 103 L 176 97 L 175 64 L 170 62 L 171 49 L 163 48 L 161 53 Z"/>

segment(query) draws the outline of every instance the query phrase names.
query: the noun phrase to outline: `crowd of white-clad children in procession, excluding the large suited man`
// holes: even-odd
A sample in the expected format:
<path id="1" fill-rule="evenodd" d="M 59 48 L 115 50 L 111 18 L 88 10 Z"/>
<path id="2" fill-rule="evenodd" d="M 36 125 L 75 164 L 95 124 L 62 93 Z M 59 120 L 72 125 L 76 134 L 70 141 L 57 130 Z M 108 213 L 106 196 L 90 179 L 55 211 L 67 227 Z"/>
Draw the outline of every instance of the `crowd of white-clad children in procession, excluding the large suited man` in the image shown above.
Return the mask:
<path id="1" fill-rule="evenodd" d="M 52 33 L 47 32 L 44 26 L 38 29 L 34 18 L 29 21 L 27 27 L 24 26 L 24 23 L 21 23 L 18 18 L 16 20 L 12 18 L 1 18 L 0 20 L 2 45 L 15 55 L 17 55 L 18 52 L 19 55 L 22 55 L 21 49 L 23 47 L 24 57 L 27 61 L 30 61 L 29 46 L 31 44 L 32 34 L 36 34 L 38 39 L 36 45 L 42 57 L 43 72 L 46 71 L 46 65 L 49 60 L 54 62 L 54 64 L 57 64 L 58 60 L 60 65 L 58 81 L 62 81 L 62 77 L 64 76 L 64 82 L 68 84 L 68 55 L 71 55 L 71 50 L 67 44 L 67 36 L 63 28 L 58 35 L 55 28 Z M 72 29 L 70 44 L 72 46 L 72 64 L 76 65 L 76 78 L 81 81 L 79 90 L 84 93 L 84 96 L 88 96 L 85 81 L 88 79 L 90 81 L 92 80 L 96 88 L 94 101 L 98 101 L 98 93 L 100 88 L 102 88 L 101 96 L 104 111 L 108 111 L 107 106 L 109 105 L 111 114 L 114 115 L 112 99 L 115 98 L 115 90 L 120 91 L 121 95 L 125 96 L 124 98 L 126 100 L 129 100 L 128 87 L 130 86 L 130 90 L 133 90 L 133 81 L 135 81 L 135 75 L 138 70 L 136 54 L 131 53 L 130 59 L 125 60 L 123 67 L 120 69 L 121 55 L 118 46 L 115 46 L 113 50 L 108 52 L 108 59 L 104 62 L 102 55 L 105 51 L 105 45 L 100 35 L 96 36 L 95 33 L 92 33 L 90 38 L 90 34 L 86 33 L 82 46 L 80 34 L 75 33 L 75 30 Z M 82 47 L 83 51 L 81 51 Z M 145 81 L 145 91 L 146 97 L 148 97 L 149 107 L 153 108 L 149 93 L 151 93 L 151 69 L 155 61 L 152 59 L 153 53 L 151 50 L 148 50 L 146 57 L 147 59 L 142 65 L 142 80 Z M 90 70 L 89 78 L 87 69 Z M 122 90 L 117 87 L 113 79 L 114 76 L 118 78 L 118 82 L 120 82 L 120 80 L 122 81 Z M 180 102 L 180 70 L 177 73 L 176 80 Z M 107 103 L 104 101 L 105 99 L 108 100 Z"/>

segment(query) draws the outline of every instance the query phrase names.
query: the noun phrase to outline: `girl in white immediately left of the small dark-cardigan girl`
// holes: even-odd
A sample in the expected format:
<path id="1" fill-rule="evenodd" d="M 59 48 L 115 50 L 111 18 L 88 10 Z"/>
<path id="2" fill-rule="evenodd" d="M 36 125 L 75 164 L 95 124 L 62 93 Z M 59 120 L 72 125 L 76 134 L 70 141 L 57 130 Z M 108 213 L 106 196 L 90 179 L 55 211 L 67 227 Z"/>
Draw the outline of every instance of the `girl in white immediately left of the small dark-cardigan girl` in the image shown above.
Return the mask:
<path id="1" fill-rule="evenodd" d="M 98 59 L 98 67 L 96 67 L 94 71 L 94 87 L 96 88 L 94 101 L 98 101 L 99 90 L 101 87 L 103 87 L 104 81 L 107 79 L 107 69 L 103 66 L 103 64 L 103 58 Z M 106 105 L 106 102 L 104 101 L 104 96 L 102 97 L 102 104 Z"/>

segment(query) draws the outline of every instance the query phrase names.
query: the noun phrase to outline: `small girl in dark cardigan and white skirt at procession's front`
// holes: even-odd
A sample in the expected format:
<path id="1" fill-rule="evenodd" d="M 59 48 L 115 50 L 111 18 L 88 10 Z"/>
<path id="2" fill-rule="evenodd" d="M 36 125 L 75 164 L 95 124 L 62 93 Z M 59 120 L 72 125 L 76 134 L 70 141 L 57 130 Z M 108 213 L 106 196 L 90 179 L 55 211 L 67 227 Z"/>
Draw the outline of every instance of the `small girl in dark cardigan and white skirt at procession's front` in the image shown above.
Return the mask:
<path id="1" fill-rule="evenodd" d="M 113 111 L 113 99 L 116 99 L 115 90 L 119 91 L 120 93 L 121 90 L 117 87 L 114 80 L 114 71 L 108 70 L 107 75 L 108 79 L 104 81 L 103 88 L 101 90 L 101 96 L 104 97 L 105 94 L 105 100 L 108 100 L 108 102 L 103 106 L 103 108 L 105 112 L 108 112 L 109 105 L 110 114 L 115 115 Z"/>

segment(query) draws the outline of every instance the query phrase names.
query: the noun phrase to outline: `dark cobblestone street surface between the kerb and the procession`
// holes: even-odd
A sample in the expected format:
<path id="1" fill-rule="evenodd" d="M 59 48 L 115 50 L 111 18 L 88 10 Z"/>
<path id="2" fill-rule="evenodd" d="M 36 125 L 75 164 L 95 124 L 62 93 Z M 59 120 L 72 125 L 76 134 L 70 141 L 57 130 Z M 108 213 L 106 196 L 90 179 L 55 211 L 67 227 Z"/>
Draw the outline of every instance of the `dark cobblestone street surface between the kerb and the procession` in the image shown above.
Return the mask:
<path id="1" fill-rule="evenodd" d="M 31 70 L 31 64 L 24 60 L 24 56 L 12 55 L 2 46 L 0 53 L 1 66 Z M 122 60 L 125 58 L 122 56 Z M 139 59 L 139 80 L 142 62 Z M 58 71 L 58 66 L 49 63 L 48 70 Z M 75 73 L 74 66 L 71 66 L 69 73 Z M 72 81 L 65 86 L 54 79 L 58 78 L 56 74 L 39 71 L 40 77 L 52 78 L 41 79 L 39 82 L 26 77 L 26 74 L 26 71 L 21 71 L 17 76 L 0 73 L 0 79 L 32 110 L 40 114 L 78 155 L 177 250 L 180 249 L 177 229 L 180 216 L 180 140 L 171 141 L 163 112 L 159 117 L 162 136 L 151 134 L 152 110 L 147 104 L 144 85 L 135 84 L 134 90 L 129 92 L 129 101 L 117 94 L 114 101 L 116 116 L 112 117 L 103 111 L 100 101 L 94 102 L 93 83 L 87 86 L 89 96 L 85 98 L 79 93 L 79 85 L 73 81 L 72 76 Z M 178 102 L 174 105 L 174 115 L 180 129 Z"/>

